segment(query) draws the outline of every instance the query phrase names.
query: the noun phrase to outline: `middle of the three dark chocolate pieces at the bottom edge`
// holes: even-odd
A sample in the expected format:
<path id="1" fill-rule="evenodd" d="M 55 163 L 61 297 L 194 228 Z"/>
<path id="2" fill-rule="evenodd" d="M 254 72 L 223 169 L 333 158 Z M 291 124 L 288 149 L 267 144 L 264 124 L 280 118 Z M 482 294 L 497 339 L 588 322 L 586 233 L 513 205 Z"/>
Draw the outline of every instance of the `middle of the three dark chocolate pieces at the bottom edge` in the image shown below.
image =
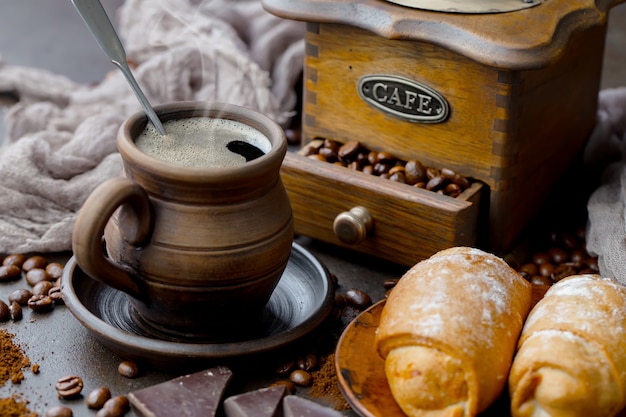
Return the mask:
<path id="1" fill-rule="evenodd" d="M 285 393 L 284 385 L 276 385 L 233 395 L 224 400 L 224 414 L 226 417 L 278 417 Z"/>

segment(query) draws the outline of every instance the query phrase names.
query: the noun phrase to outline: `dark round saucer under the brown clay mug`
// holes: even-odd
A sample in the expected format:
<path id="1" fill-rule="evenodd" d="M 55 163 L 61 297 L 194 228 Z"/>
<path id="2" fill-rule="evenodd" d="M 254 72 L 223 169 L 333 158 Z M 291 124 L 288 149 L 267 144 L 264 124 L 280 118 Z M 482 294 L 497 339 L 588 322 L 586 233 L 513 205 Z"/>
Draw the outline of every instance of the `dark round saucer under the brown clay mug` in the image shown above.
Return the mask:
<path id="1" fill-rule="evenodd" d="M 326 268 L 297 243 L 285 272 L 261 313 L 259 336 L 228 343 L 179 342 L 148 336 L 133 319 L 128 297 L 90 278 L 74 257 L 65 265 L 63 297 L 72 314 L 105 346 L 122 357 L 157 368 L 268 352 L 310 333 L 333 307 Z"/>

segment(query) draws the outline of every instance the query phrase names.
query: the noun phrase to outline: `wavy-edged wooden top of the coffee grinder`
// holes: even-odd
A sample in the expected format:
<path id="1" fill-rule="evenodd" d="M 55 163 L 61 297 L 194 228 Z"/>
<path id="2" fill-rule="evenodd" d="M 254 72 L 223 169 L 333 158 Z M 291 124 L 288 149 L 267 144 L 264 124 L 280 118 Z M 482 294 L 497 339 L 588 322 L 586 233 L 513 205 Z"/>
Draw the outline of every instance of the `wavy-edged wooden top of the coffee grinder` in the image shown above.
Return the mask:
<path id="1" fill-rule="evenodd" d="M 626 0 L 534 0 L 536 4 L 531 5 L 536 7 L 472 14 L 422 10 L 392 1 L 444 4 L 455 0 L 262 0 L 262 3 L 267 11 L 280 17 L 349 25 L 387 39 L 438 45 L 488 66 L 528 70 L 546 67 L 558 59 L 573 33 L 606 25 L 608 10 Z M 479 0 L 473 0 L 476 1 Z M 505 4 L 514 0 L 501 1 Z"/>

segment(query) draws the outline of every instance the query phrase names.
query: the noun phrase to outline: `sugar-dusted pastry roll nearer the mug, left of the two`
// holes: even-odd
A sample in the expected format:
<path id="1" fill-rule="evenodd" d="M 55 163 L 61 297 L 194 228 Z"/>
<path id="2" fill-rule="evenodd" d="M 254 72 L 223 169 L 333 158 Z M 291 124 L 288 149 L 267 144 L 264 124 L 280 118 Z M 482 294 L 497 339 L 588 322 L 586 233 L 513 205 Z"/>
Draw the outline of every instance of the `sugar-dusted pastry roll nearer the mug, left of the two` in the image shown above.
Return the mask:
<path id="1" fill-rule="evenodd" d="M 531 285 L 468 247 L 413 266 L 389 294 L 375 336 L 391 393 L 410 417 L 475 416 L 505 388 Z"/>

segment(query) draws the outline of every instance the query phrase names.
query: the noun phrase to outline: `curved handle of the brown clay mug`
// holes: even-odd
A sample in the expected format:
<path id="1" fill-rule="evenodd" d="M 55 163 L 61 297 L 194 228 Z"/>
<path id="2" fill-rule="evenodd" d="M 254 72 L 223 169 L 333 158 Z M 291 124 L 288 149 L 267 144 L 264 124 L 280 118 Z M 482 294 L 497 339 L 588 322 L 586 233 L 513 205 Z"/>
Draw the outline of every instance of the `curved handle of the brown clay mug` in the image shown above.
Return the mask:
<path id="1" fill-rule="evenodd" d="M 146 242 L 152 232 L 152 211 L 148 194 L 136 182 L 125 177 L 100 184 L 78 212 L 72 233 L 72 251 L 78 266 L 101 283 L 141 299 L 138 280 L 130 268 L 124 268 L 105 256 L 104 228 L 120 208 L 122 238 L 131 245 Z"/>

